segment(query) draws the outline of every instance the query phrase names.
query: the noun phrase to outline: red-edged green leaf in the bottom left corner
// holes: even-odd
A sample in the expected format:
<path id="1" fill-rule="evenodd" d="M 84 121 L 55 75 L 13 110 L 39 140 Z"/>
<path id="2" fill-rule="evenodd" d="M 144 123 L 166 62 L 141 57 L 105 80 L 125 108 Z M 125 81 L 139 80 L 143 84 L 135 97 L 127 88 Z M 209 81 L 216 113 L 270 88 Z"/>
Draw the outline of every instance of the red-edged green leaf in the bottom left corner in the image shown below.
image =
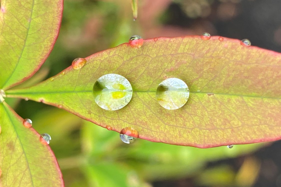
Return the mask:
<path id="1" fill-rule="evenodd" d="M 60 167 L 49 146 L 6 103 L 0 105 L 0 186 L 64 186 Z"/>

